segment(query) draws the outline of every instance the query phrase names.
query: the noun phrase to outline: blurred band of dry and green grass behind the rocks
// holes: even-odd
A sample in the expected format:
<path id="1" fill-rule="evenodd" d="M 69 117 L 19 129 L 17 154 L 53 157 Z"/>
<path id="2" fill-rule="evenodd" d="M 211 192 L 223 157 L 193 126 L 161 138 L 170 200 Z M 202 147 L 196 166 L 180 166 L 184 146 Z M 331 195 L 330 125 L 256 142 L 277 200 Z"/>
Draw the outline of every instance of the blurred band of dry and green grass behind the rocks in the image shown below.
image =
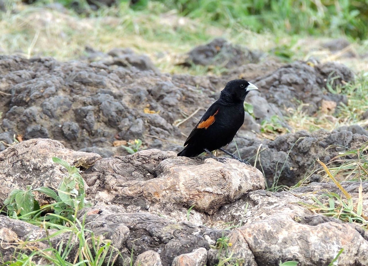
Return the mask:
<path id="1" fill-rule="evenodd" d="M 129 47 L 169 73 L 208 73 L 176 57 L 215 37 L 286 62 L 321 59 L 321 43 L 339 37 L 354 54 L 368 48 L 368 0 L 0 0 L 0 10 L 1 54 L 66 61 L 87 46 Z M 367 70 L 363 58 L 341 62 Z"/>

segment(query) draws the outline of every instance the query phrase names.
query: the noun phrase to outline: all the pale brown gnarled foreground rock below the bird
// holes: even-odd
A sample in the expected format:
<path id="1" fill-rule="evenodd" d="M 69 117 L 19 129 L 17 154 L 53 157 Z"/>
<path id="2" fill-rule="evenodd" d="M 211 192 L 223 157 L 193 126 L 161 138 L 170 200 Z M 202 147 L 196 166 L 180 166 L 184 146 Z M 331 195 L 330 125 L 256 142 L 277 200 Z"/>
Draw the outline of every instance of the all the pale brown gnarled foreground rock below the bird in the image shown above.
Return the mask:
<path id="1" fill-rule="evenodd" d="M 83 209 L 78 217 L 85 219 L 87 230 L 110 240 L 121 252 L 115 265 L 215 266 L 219 259 L 228 259 L 229 263 L 251 266 L 279 265 L 280 260 L 320 266 L 328 265 L 342 248 L 339 265 L 368 264 L 366 230 L 357 223 L 315 214 L 305 206 L 314 204 L 311 198 L 319 197 L 323 189 L 339 193 L 333 183 L 272 193 L 263 190 L 260 171 L 233 159 L 221 164 L 211 158 L 198 161 L 155 149 L 101 158 L 66 149 L 50 139 L 32 139 L 0 152 L 0 202 L 11 190 L 29 184 L 57 187 L 66 170 L 52 163 L 53 156 L 82 169 L 87 198 L 99 203 Z M 360 183 L 343 182 L 342 186 L 357 201 Z M 367 193 L 368 182 L 361 186 L 362 193 Z M 311 191 L 321 193 L 308 193 Z M 49 200 L 39 193 L 35 197 L 45 204 Z M 328 198 L 320 201 L 329 203 Z M 195 207 L 187 221 L 190 204 Z M 362 204 L 366 209 L 366 197 Z M 230 223 L 238 227 L 221 229 Z M 50 237 L 50 242 L 32 242 L 31 247 L 14 244 L 46 238 L 46 233 L 50 237 L 54 230 L 46 232 L 0 215 L 0 261 L 14 252 L 30 254 L 35 245 L 42 249 L 51 243 L 58 250 L 66 248 L 59 245 L 68 243 L 69 233 Z M 217 239 L 223 237 L 231 245 L 216 248 Z M 71 241 L 78 246 L 77 238 Z M 70 262 L 76 250 L 69 249 Z M 39 260 L 39 265 L 46 264 L 49 262 Z"/>

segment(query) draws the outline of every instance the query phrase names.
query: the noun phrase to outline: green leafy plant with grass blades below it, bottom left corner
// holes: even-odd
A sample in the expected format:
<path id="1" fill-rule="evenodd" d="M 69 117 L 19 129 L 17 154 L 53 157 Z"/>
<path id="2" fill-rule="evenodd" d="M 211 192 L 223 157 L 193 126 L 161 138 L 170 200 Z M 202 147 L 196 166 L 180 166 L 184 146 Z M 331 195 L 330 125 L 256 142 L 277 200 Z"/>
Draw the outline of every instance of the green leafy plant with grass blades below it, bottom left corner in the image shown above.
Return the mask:
<path id="1" fill-rule="evenodd" d="M 53 162 L 68 171 L 56 192 L 49 187 L 32 189 L 27 186 L 26 190 L 13 190 L 4 201 L 8 216 L 40 226 L 45 230 L 46 238 L 24 241 L 22 249 L 16 249 L 13 257 L 3 265 L 36 266 L 36 261 L 42 257 L 47 263 L 56 266 L 112 266 L 121 256 L 120 252 L 111 245 L 110 240 L 95 236 L 86 229 L 84 218 L 81 221 L 77 219 L 78 210 L 90 205 L 85 200 L 84 182 L 79 169 L 57 157 L 53 157 Z M 43 193 L 56 203 L 40 206 L 34 192 Z M 57 230 L 51 234 L 48 229 Z M 65 233 L 70 234 L 68 242 L 53 246 L 50 239 Z M 78 240 L 77 244 L 74 240 Z M 41 241 L 48 243 L 49 247 L 35 248 L 35 244 Z M 72 250 L 77 250 L 75 258 L 70 258 Z"/>

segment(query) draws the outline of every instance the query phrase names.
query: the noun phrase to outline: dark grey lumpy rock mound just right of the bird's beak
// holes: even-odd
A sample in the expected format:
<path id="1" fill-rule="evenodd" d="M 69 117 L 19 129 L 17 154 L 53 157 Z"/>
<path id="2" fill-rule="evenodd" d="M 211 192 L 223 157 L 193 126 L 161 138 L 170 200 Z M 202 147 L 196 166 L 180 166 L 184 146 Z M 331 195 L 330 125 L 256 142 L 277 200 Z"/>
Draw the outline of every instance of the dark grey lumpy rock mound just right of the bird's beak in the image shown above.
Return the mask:
<path id="1" fill-rule="evenodd" d="M 332 87 L 342 82 L 354 80 L 353 72 L 338 63 L 324 63 L 315 68 L 304 62 L 294 62 L 283 66 L 270 74 L 251 80 L 257 85 L 269 103 L 279 107 L 294 108 L 300 105 L 295 99 L 308 103 L 310 114 L 317 112 L 322 100 L 335 101 L 337 104 L 347 104 L 346 95 L 324 92 L 323 88 L 330 83 L 331 78 L 339 76 L 332 82 Z"/>

